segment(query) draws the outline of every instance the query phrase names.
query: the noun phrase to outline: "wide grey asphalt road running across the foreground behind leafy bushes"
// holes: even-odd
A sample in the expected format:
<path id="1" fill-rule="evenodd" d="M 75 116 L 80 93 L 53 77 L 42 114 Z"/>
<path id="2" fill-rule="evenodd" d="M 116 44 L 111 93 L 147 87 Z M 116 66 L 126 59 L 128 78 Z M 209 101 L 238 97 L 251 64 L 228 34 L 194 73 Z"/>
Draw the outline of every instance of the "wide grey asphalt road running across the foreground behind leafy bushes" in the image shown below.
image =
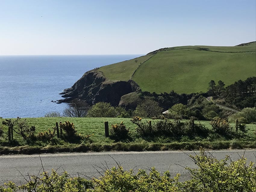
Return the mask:
<path id="1" fill-rule="evenodd" d="M 213 151 L 210 151 L 213 152 Z M 220 150 L 214 151 L 217 159 L 222 159 L 226 155 L 231 155 L 234 160 L 239 159 L 245 152 L 248 161 L 255 161 L 255 150 Z M 197 152 L 198 153 L 198 152 Z M 189 179 L 188 172 L 182 166 L 196 168 L 196 165 L 189 158 L 193 151 L 159 151 L 159 152 L 101 152 L 101 153 L 55 153 L 41 154 L 43 167 L 46 171 L 58 169 L 59 172 L 66 170 L 71 176 L 77 176 L 78 173 L 89 177 L 99 176 L 98 168 L 108 165 L 116 166 L 120 162 L 125 170 L 148 169 L 155 166 L 156 169 L 163 173 L 170 171 L 172 176 L 176 173 L 181 174 L 181 180 Z M 113 158 L 113 159 L 112 159 Z M 2 155 L 0 156 L 0 185 L 6 181 L 14 181 L 17 184 L 24 183 L 22 175 L 37 175 L 42 172 L 42 165 L 39 155 Z M 102 165 L 103 164 L 103 165 Z M 178 164 L 178 165 L 177 165 Z M 181 165 L 181 166 L 180 166 Z M 97 170 L 96 170 L 97 169 Z M 22 175 L 21 175 L 22 174 Z"/>

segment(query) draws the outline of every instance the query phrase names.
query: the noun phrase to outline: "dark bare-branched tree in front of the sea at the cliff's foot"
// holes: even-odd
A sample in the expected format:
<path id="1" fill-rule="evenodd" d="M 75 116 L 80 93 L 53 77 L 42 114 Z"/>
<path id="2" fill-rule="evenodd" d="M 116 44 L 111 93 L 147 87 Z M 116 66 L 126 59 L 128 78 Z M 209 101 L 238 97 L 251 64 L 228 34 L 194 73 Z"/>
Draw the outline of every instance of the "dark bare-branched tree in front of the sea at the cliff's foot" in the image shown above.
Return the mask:
<path id="1" fill-rule="evenodd" d="M 90 109 L 89 104 L 86 101 L 80 99 L 74 99 L 71 103 L 68 103 L 68 107 L 64 109 L 64 117 L 86 117 L 87 111 Z"/>

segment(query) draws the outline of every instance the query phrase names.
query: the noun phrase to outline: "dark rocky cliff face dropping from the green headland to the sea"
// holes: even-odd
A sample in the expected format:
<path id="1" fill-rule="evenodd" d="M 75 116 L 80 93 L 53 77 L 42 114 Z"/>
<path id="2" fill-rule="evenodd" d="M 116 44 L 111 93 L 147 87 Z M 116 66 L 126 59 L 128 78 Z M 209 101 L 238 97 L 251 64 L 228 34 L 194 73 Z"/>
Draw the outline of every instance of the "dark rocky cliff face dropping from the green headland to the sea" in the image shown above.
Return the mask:
<path id="1" fill-rule="evenodd" d="M 110 81 L 102 72 L 91 70 L 86 72 L 72 87 L 65 89 L 60 102 L 70 102 L 79 98 L 88 104 L 100 101 L 118 106 L 120 98 L 131 92 L 140 91 L 139 85 L 133 80 Z"/>

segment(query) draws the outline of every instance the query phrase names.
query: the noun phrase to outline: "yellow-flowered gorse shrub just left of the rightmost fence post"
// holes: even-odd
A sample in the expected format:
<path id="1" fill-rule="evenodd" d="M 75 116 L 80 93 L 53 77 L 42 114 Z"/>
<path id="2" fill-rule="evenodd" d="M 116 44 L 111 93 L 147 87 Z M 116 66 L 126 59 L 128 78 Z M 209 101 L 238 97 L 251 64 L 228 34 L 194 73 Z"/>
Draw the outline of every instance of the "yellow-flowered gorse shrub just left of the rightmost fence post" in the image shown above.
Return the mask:
<path id="1" fill-rule="evenodd" d="M 229 125 L 229 123 L 224 119 L 214 119 L 210 122 L 210 125 L 212 126 L 212 130 L 220 135 L 228 136 L 232 132 L 232 127 Z"/>

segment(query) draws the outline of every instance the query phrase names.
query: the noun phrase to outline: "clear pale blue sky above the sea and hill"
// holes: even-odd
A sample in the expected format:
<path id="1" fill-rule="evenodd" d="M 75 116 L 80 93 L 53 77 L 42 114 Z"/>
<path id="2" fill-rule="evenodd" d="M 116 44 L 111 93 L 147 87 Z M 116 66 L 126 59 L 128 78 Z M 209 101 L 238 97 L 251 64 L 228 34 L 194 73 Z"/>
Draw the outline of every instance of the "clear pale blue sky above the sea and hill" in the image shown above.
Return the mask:
<path id="1" fill-rule="evenodd" d="M 0 0 L 0 55 L 146 54 L 255 39 L 255 0 Z"/>

